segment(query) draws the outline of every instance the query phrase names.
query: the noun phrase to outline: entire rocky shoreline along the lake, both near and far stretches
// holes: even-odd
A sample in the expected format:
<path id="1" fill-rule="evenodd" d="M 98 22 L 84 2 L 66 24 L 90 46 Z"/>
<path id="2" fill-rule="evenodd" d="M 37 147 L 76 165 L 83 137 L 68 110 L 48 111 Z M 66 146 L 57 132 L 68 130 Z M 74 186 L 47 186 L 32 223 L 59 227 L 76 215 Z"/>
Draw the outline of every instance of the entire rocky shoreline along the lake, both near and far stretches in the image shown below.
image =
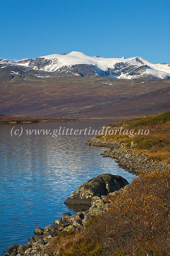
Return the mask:
<path id="1" fill-rule="evenodd" d="M 159 162 L 150 160 L 148 161 L 148 156 L 138 155 L 133 152 L 133 149 L 128 150 L 125 148 L 125 143 L 115 142 L 103 142 L 97 137 L 91 138 L 86 142 L 87 145 L 108 147 L 109 150 L 105 150 L 101 155 L 103 157 L 110 157 L 116 159 L 119 167 L 127 170 L 130 173 L 138 175 L 140 171 L 150 172 L 152 170 L 169 168 L 169 161 Z M 126 185 L 118 191 L 109 193 L 111 196 L 117 196 L 118 194 L 124 192 L 127 189 Z M 46 226 L 44 229 L 36 228 L 34 231 L 35 237 L 31 236 L 28 239 L 26 245 L 11 245 L 7 249 L 7 253 L 4 256 L 51 256 L 44 252 L 45 248 L 50 246 L 50 240 L 58 235 L 58 232 L 70 230 L 79 232 L 89 220 L 93 219 L 98 214 L 107 211 L 109 209 L 109 199 L 107 195 L 94 196 L 89 205 L 89 210 L 84 211 L 82 209 L 74 215 L 69 212 L 65 213 L 61 219 L 56 220 L 52 225 Z M 55 255 L 58 255 L 56 251 Z"/>

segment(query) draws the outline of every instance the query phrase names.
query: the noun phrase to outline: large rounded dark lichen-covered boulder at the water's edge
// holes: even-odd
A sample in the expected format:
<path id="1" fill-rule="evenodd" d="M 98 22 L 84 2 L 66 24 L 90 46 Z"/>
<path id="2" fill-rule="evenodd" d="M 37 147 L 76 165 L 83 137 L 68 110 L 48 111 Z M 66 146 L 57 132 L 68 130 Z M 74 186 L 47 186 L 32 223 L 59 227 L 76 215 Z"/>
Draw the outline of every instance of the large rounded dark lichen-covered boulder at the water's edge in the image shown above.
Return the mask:
<path id="1" fill-rule="evenodd" d="M 108 195 L 127 184 L 129 184 L 127 180 L 119 175 L 104 173 L 85 182 L 64 203 L 89 205 L 94 196 Z"/>

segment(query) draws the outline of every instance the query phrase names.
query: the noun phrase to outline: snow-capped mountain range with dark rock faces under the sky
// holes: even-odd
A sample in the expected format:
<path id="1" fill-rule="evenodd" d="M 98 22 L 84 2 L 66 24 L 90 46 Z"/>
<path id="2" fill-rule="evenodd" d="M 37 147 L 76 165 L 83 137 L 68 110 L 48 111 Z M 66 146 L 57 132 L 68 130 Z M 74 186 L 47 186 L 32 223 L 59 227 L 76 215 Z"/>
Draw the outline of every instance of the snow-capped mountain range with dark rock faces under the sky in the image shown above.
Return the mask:
<path id="1" fill-rule="evenodd" d="M 35 60 L 25 59 L 10 61 L 0 59 L 0 63 L 11 63 L 27 66 L 34 70 L 57 73 L 79 73 L 85 77 L 109 76 L 118 79 L 161 78 L 170 79 L 170 64 L 152 64 L 141 57 L 100 58 L 90 57 L 82 52 L 53 54 L 38 57 Z"/>

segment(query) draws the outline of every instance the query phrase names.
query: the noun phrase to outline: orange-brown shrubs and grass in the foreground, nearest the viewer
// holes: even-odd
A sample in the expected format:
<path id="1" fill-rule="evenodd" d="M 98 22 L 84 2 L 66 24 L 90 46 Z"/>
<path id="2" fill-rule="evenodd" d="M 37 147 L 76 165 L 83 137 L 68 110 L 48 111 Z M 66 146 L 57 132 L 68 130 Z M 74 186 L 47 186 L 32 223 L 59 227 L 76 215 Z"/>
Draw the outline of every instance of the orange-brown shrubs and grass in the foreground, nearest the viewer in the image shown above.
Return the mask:
<path id="1" fill-rule="evenodd" d="M 169 255 L 169 211 L 170 170 L 141 173 L 112 198 L 106 213 L 80 232 L 53 238 L 45 251 L 63 256 Z"/>

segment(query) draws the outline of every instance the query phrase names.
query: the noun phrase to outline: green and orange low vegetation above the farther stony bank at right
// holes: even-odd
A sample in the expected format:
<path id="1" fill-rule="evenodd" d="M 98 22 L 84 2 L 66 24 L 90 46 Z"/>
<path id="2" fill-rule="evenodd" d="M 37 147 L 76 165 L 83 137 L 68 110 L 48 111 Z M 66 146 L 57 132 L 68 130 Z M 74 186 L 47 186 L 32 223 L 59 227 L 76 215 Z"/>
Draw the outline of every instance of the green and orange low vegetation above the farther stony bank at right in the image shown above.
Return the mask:
<path id="1" fill-rule="evenodd" d="M 115 130 L 121 126 L 122 132 L 128 130 L 128 134 L 122 134 L 122 132 L 120 134 L 118 131 L 115 135 Z M 105 138 L 98 135 L 98 138 L 106 142 L 115 140 L 125 142 L 129 149 L 131 142 L 135 143 L 133 151 L 145 153 L 148 155 L 148 160 L 166 161 L 170 158 L 170 111 L 154 117 L 136 118 L 110 124 L 109 127 L 114 130 L 114 133 L 112 135 L 107 133 Z M 129 136 L 130 130 L 134 131 L 131 136 Z"/>

